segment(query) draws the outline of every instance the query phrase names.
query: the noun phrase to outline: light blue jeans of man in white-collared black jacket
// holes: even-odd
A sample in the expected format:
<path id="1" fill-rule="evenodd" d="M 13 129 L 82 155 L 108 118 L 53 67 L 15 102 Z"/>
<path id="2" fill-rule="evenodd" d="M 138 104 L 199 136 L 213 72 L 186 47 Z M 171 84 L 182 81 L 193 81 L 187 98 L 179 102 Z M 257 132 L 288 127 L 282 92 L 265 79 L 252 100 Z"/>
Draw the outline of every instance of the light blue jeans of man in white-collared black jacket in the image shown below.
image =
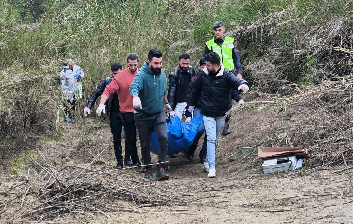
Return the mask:
<path id="1" fill-rule="evenodd" d="M 225 124 L 225 117 L 206 117 L 203 116 L 207 134 L 207 157 L 206 162 L 210 168 L 216 167 L 216 150 L 221 138 L 221 130 Z"/>

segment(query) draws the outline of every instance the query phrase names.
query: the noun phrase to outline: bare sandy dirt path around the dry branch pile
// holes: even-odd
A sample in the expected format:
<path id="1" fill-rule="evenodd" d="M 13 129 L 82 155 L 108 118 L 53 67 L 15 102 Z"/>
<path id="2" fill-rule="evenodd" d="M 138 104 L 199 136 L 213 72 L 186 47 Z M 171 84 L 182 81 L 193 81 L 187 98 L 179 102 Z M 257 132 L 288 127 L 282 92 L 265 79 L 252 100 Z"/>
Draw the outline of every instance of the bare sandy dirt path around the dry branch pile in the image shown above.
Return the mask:
<path id="1" fill-rule="evenodd" d="M 91 123 L 86 129 L 90 129 L 88 136 L 95 143 L 98 134 L 94 122 Z M 59 167 L 65 164 L 84 166 L 90 162 L 91 155 L 97 155 L 108 147 L 101 155 L 101 161 L 103 164 L 115 165 L 111 134 L 106 124 L 100 132 L 100 144 L 87 149 L 73 147 L 78 143 L 77 138 L 66 138 L 74 136 L 78 125 L 68 130 L 60 141 L 42 142 L 40 150 L 48 162 Z M 221 141 L 222 145 L 218 155 L 222 155 L 227 138 Z M 17 196 L 23 194 L 25 185 L 17 185 L 26 179 L 26 170 L 32 166 L 32 162 L 25 157 L 17 156 L 14 157 L 16 160 L 2 161 L 0 164 L 0 223 L 19 211 L 21 200 Z M 155 160 L 157 156 L 153 155 L 152 162 Z M 237 170 L 244 164 L 237 165 L 239 161 L 228 161 L 217 166 L 216 178 L 208 179 L 197 155 L 193 161 L 188 161 L 183 154 L 169 161 L 168 173 L 171 178 L 166 183 L 170 190 L 183 189 L 180 195 L 190 195 L 190 200 L 195 200 L 193 203 L 183 206 L 137 207 L 117 202 L 116 206 L 121 206 L 121 210 L 128 208 L 130 212 L 111 212 L 107 216 L 89 212 L 71 213 L 54 219 L 52 223 L 353 223 L 352 189 L 348 177 L 344 173 L 333 174 L 333 171 L 341 168 L 315 169 L 300 175 L 281 176 L 261 174 L 260 167 L 256 166 L 235 175 L 228 171 Z M 140 175 L 130 170 L 121 172 Z M 5 211 L 1 203 L 11 199 L 16 203 L 12 203 L 11 208 Z M 132 209 L 134 212 L 131 212 Z M 19 223 L 16 220 L 12 222 Z"/>

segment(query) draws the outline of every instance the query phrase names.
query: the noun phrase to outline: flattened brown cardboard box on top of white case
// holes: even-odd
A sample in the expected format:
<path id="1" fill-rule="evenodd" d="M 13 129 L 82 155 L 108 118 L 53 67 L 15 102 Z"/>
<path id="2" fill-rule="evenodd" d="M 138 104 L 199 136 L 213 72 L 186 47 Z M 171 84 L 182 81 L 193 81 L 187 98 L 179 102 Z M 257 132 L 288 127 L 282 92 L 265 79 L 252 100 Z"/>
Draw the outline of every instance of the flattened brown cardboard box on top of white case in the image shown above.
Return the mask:
<path id="1" fill-rule="evenodd" d="M 271 157 L 279 157 L 286 155 L 296 155 L 297 158 L 305 157 L 308 154 L 307 149 L 287 148 L 287 147 L 258 147 L 257 157 L 262 160 Z"/>

